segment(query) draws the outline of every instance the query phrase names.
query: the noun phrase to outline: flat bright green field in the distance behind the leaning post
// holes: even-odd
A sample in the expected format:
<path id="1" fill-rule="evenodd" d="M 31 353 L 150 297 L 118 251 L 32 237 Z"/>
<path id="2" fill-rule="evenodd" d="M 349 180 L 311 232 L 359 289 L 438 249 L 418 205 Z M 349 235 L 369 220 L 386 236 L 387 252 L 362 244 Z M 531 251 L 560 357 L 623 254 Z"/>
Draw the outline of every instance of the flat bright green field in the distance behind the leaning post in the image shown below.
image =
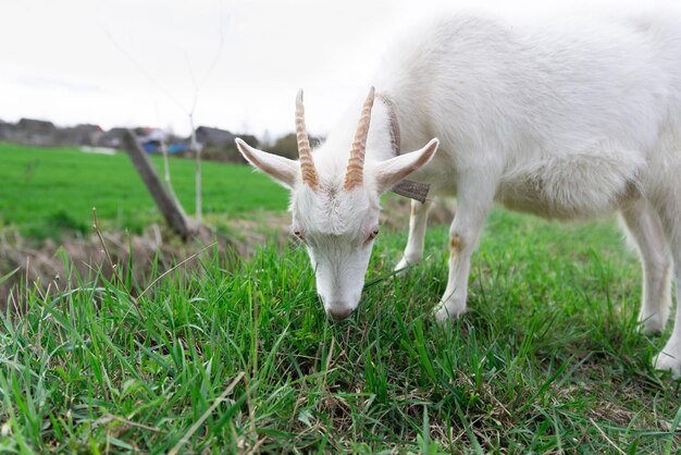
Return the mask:
<path id="1" fill-rule="evenodd" d="M 89 232 L 92 207 L 108 229 L 139 233 L 161 220 L 125 153 L 102 156 L 75 148 L 0 143 L 0 226 L 15 226 L 27 237 Z M 152 161 L 163 175 L 162 160 L 152 157 Z M 194 165 L 193 160 L 171 159 L 173 186 L 187 213 L 195 210 Z M 248 217 L 253 208 L 281 211 L 286 207 L 281 187 L 245 165 L 205 162 L 202 182 L 203 212 L 209 221 Z"/>

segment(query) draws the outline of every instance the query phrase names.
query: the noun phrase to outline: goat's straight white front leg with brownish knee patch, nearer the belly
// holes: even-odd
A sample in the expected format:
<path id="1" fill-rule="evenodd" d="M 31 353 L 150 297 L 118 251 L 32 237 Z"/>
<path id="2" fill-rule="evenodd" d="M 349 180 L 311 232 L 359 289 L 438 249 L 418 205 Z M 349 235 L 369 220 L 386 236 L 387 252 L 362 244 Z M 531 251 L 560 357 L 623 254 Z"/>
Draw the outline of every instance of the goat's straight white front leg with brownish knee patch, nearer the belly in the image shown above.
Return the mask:
<path id="1" fill-rule="evenodd" d="M 487 176 L 487 179 L 485 179 Z M 457 210 L 449 229 L 449 278 L 435 318 L 444 321 L 466 311 L 471 254 L 492 208 L 496 184 L 488 174 L 472 174 L 459 181 Z"/>

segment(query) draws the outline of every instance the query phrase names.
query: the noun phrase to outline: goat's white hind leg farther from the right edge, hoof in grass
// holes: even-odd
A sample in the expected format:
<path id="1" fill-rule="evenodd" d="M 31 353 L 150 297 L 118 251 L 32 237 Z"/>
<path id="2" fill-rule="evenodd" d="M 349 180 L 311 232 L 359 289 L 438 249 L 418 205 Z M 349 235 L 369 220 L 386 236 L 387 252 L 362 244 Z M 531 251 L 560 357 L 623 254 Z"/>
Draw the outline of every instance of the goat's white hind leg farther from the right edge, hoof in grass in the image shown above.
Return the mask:
<path id="1" fill-rule="evenodd" d="M 645 199 L 622 210 L 643 266 L 643 298 L 639 323 L 644 333 L 665 330 L 671 308 L 671 260 L 659 217 Z"/>

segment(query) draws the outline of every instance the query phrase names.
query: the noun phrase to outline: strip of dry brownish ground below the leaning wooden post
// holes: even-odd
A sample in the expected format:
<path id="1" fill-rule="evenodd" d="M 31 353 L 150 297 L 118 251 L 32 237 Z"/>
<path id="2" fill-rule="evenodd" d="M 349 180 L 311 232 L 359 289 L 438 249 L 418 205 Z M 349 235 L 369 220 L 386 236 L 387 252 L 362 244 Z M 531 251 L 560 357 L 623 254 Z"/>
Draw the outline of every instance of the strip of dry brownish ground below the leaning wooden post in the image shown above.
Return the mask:
<path id="1" fill-rule="evenodd" d="M 49 298 L 63 290 L 90 285 L 98 275 L 107 281 L 115 281 L 116 276 L 125 281 L 129 274 L 132 282 L 144 288 L 154 263 L 157 273 L 162 273 L 212 242 L 218 242 L 221 250 L 236 254 L 240 247 L 226 237 L 197 238 L 184 244 L 158 225 L 149 226 L 141 235 L 104 232 L 102 238 L 106 248 L 97 234 L 65 235 L 59 243 L 48 239 L 40 245 L 15 232 L 0 234 L 0 281 L 7 276 L 0 282 L 0 307 L 21 310 L 25 299 L 16 294 L 20 288 Z M 191 258 L 183 268 L 196 266 L 197 259 Z"/>

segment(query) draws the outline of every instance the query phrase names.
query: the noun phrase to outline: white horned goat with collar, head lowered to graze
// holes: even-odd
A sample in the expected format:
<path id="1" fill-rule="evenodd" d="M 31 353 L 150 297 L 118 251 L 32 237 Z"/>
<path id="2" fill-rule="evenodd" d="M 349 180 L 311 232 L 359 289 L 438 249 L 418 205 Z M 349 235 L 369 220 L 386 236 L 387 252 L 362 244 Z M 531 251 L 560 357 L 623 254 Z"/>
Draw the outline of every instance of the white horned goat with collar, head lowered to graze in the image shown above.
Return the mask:
<path id="1" fill-rule="evenodd" d="M 409 36 L 374 83 L 381 91 L 375 104 L 373 88 L 367 98 L 351 145 L 345 125 L 311 152 L 301 93 L 299 162 L 237 139 L 251 164 L 292 189 L 293 230 L 329 316 L 357 307 L 379 198 L 411 174 L 458 200 L 438 320 L 466 310 L 470 256 L 496 201 L 565 220 L 620 211 L 643 265 L 642 330 L 665 328 L 672 259 L 681 302 L 681 23 L 510 27 L 455 16 Z M 421 260 L 429 206 L 412 201 L 397 269 Z M 681 376 L 681 309 L 655 365 Z"/>

